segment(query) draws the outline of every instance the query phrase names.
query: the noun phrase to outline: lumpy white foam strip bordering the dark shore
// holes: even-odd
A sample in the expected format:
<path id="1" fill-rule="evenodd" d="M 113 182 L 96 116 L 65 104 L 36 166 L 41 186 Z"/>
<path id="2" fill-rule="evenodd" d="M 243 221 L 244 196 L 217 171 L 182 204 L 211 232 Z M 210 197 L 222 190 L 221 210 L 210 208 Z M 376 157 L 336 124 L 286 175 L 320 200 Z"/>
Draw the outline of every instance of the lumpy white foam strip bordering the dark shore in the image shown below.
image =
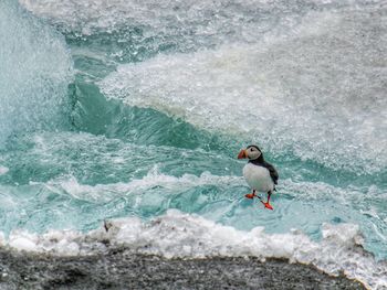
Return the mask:
<path id="1" fill-rule="evenodd" d="M 323 239 L 313 241 L 297 230 L 291 234 L 265 234 L 262 227 L 240 232 L 189 214 L 170 210 L 166 215 L 143 223 L 138 218 L 108 222 L 86 235 L 75 232 L 50 232 L 38 236 L 22 232 L 10 236 L 8 246 L 55 255 L 87 255 L 112 245 L 125 245 L 143 254 L 167 258 L 206 258 L 215 256 L 254 256 L 287 258 L 293 262 L 314 265 L 331 275 L 341 271 L 372 289 L 387 287 L 385 261 L 375 261 L 363 247 L 358 226 L 351 224 L 323 226 Z"/>

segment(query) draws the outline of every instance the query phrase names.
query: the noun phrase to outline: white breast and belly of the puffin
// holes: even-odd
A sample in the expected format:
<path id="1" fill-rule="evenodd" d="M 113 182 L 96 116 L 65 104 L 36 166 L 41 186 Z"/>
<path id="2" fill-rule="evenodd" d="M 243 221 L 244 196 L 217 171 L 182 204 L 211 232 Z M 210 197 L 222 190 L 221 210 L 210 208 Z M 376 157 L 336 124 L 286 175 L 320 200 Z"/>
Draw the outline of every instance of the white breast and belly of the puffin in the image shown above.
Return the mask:
<path id="1" fill-rule="evenodd" d="M 243 168 L 243 176 L 251 189 L 258 192 L 274 190 L 274 183 L 266 168 L 248 163 Z"/>

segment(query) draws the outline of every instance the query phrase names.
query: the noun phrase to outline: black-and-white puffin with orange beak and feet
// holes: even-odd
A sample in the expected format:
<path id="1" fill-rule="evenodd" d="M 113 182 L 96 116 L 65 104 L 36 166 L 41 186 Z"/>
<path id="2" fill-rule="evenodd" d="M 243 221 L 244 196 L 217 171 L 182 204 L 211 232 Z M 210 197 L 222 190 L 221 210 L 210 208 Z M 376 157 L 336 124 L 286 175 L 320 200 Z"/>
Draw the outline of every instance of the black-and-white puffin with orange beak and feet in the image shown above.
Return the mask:
<path id="1" fill-rule="evenodd" d="M 244 196 L 251 200 L 258 197 L 265 208 L 273 210 L 269 202 L 279 180 L 279 173 L 275 168 L 264 160 L 261 149 L 254 144 L 242 149 L 238 154 L 238 159 L 249 159 L 249 162 L 243 168 L 243 176 L 252 189 L 252 193 Z M 255 192 L 268 193 L 268 201 L 263 202 Z"/>

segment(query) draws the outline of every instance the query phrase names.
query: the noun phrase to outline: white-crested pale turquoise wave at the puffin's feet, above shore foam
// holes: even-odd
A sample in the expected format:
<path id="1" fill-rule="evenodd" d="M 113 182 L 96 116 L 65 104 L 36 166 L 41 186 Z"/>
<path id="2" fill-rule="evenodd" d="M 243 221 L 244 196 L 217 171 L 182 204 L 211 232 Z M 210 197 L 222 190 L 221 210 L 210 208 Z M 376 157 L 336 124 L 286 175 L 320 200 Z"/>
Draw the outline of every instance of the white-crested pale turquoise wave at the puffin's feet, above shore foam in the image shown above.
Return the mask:
<path id="1" fill-rule="evenodd" d="M 387 215 L 384 214 L 383 204 L 387 201 L 387 192 L 375 186 L 341 189 L 323 182 L 284 180 L 279 186 L 279 194 L 273 197 L 276 211 L 266 215 L 265 211 L 260 211 L 259 203 L 245 202 L 243 195 L 248 189 L 241 176 L 219 176 L 210 172 L 172 176 L 160 173 L 154 167 L 142 179 L 127 183 L 91 186 L 80 184 L 74 176 L 65 176 L 34 185 L 69 195 L 72 200 L 103 205 L 104 211 L 98 218 L 106 214 L 112 216 L 109 211 L 114 211 L 114 214 L 128 211 L 129 215 L 146 219 L 149 212 L 158 215 L 175 207 L 238 229 L 251 230 L 264 225 L 269 233 L 285 233 L 299 228 L 315 239 L 321 238 L 321 230 L 324 230 L 322 225 L 326 222 L 358 224 L 366 235 L 365 248 L 377 258 L 386 258 L 384 221 Z M 117 208 L 113 210 L 117 202 Z M 244 219 L 250 222 L 245 223 Z"/>

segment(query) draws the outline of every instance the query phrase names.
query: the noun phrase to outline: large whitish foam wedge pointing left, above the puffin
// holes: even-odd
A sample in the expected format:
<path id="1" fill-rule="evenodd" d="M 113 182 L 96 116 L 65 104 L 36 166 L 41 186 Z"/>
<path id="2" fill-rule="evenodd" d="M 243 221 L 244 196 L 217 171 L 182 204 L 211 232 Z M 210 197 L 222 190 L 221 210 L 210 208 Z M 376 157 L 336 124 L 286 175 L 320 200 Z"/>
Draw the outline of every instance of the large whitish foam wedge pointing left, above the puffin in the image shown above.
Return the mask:
<path id="1" fill-rule="evenodd" d="M 384 42 L 358 34 L 377 23 L 367 12 L 310 13 L 291 36 L 158 55 L 121 65 L 101 86 L 129 106 L 243 136 L 273 152 L 379 172 L 387 163 L 386 71 L 373 63 L 380 53 L 364 53 Z"/>

